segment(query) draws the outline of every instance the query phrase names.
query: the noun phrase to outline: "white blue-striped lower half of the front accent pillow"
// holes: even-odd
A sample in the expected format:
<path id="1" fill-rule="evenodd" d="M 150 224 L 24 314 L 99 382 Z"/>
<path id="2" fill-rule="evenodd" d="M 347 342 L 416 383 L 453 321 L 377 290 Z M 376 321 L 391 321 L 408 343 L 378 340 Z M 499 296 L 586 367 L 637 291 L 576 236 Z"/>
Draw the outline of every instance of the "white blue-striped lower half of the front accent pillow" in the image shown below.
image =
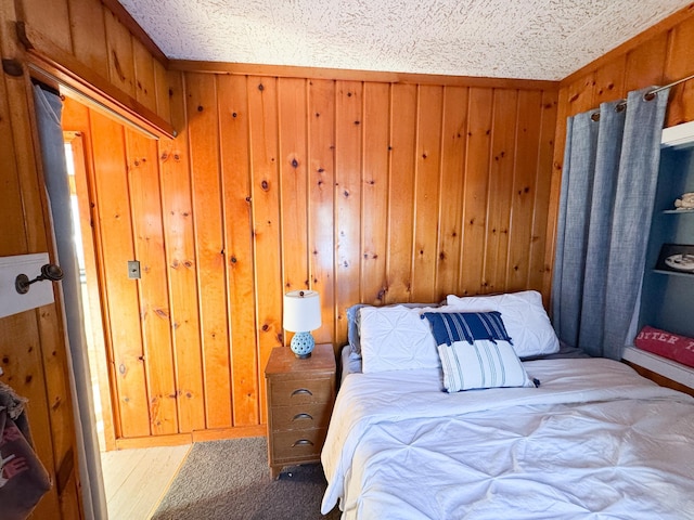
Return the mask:
<path id="1" fill-rule="evenodd" d="M 449 393 L 475 388 L 535 387 L 506 341 L 478 339 L 439 344 L 444 387 Z"/>

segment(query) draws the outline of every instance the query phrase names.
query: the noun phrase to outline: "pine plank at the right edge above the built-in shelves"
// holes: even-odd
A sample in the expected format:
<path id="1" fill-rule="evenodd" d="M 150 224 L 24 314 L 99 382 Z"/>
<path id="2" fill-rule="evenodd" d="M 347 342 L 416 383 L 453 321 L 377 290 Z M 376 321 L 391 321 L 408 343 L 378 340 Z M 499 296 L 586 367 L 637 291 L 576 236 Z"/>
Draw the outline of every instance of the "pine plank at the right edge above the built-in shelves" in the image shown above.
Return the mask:
<path id="1" fill-rule="evenodd" d="M 670 31 L 668 53 L 665 60 L 665 77 L 668 83 L 694 74 L 694 17 L 689 18 Z M 665 122 L 672 127 L 694 120 L 694 81 L 685 81 L 670 90 L 670 102 Z"/>

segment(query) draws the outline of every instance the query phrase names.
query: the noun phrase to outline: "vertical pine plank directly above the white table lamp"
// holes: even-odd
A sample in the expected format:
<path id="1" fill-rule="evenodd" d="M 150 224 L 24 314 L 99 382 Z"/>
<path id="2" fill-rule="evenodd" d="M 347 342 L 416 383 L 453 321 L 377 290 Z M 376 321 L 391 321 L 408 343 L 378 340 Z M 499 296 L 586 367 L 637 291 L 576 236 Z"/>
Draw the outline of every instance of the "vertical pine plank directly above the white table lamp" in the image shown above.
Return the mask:
<path id="1" fill-rule="evenodd" d="M 278 79 L 283 291 L 311 287 L 308 263 L 306 80 Z M 286 334 L 286 332 L 285 332 Z M 288 344 L 291 335 L 284 337 Z"/>

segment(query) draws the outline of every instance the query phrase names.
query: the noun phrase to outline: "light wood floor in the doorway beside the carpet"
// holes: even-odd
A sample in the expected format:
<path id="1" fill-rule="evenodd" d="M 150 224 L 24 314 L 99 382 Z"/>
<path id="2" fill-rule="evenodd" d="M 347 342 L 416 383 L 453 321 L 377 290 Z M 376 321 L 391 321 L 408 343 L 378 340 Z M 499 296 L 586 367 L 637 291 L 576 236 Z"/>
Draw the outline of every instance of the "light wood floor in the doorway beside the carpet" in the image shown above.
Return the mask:
<path id="1" fill-rule="evenodd" d="M 190 448 L 182 445 L 102 452 L 108 519 L 150 519 Z"/>

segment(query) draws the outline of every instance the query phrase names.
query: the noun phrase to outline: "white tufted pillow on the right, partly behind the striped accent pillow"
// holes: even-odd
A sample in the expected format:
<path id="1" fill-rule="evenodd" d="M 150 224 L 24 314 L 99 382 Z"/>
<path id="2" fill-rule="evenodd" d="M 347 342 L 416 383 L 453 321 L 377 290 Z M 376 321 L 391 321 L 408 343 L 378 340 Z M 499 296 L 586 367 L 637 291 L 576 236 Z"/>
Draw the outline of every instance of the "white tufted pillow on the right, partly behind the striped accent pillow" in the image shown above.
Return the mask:
<path id="1" fill-rule="evenodd" d="M 513 348 L 520 358 L 560 351 L 560 340 L 542 307 L 542 296 L 537 290 L 494 296 L 449 295 L 446 302 L 457 311 L 499 311 Z"/>

